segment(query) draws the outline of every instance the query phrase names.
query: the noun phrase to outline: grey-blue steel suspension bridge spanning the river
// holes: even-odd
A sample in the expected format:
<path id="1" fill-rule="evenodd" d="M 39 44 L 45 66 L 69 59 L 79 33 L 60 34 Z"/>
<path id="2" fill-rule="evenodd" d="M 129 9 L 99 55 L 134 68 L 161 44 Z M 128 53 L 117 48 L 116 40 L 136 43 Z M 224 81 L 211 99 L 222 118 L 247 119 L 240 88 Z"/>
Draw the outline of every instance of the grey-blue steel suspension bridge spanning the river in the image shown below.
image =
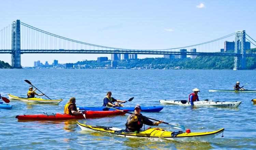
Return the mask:
<path id="1" fill-rule="evenodd" d="M 245 30 L 236 31 L 214 40 L 190 46 L 138 50 L 89 44 L 49 33 L 20 22 L 20 20 L 15 20 L 0 30 L 0 38 L 0 53 L 11 54 L 11 65 L 14 68 L 21 68 L 20 55 L 28 53 L 232 56 L 234 57 L 234 70 L 246 68 L 246 57 L 256 57 L 255 53 L 246 53 L 248 46 L 249 48 L 256 47 L 256 41 L 247 35 Z M 228 49 L 226 47 L 228 46 L 227 41 L 232 40 L 232 48 Z M 225 44 L 225 50 L 234 50 L 234 52 L 224 51 L 224 42 L 227 44 Z M 187 49 L 190 49 L 190 52 Z M 223 50 L 221 51 L 221 49 Z"/>

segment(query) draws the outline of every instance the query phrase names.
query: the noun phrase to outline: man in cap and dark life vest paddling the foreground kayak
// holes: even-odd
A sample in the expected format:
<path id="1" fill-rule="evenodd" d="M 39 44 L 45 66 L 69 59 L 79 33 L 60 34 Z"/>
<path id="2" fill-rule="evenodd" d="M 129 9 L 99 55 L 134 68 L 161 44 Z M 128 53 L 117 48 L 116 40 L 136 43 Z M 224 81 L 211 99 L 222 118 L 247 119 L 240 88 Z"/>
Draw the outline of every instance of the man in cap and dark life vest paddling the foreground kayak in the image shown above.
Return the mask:
<path id="1" fill-rule="evenodd" d="M 159 121 L 151 121 L 147 118 L 141 117 L 142 114 L 141 112 L 141 107 L 139 104 L 137 104 L 134 107 L 134 114 L 130 114 L 127 118 L 127 122 L 125 124 L 126 126 L 126 132 L 140 132 L 141 128 L 143 127 L 143 124 L 146 124 L 148 126 L 158 126 L 158 124 L 162 123 L 162 120 Z M 139 115 L 139 116 L 137 116 Z"/>

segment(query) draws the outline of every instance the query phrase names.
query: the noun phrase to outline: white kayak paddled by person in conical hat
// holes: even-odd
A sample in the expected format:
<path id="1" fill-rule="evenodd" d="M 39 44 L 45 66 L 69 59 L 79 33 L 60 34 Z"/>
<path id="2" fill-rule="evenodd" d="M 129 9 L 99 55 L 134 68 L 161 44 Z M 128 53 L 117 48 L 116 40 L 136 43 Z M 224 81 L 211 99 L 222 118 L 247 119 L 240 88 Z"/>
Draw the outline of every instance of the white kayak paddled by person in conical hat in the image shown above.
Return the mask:
<path id="1" fill-rule="evenodd" d="M 189 101 L 187 100 L 160 100 L 161 104 L 173 104 L 173 105 L 189 105 Z M 217 107 L 238 107 L 242 101 L 235 101 L 235 102 L 225 102 L 225 101 L 213 101 L 213 100 L 203 100 L 203 101 L 195 101 L 195 106 L 217 106 Z"/>

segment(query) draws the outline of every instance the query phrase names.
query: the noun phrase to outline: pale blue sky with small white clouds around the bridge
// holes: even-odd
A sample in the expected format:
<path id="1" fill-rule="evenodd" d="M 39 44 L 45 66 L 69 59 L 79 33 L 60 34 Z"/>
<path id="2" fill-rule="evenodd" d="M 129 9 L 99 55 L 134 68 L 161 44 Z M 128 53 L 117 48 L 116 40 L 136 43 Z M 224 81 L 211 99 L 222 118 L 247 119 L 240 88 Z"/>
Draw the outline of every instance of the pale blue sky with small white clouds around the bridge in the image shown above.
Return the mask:
<path id="1" fill-rule="evenodd" d="M 238 30 L 256 39 L 254 0 L 1 0 L 0 30 L 20 20 L 41 30 L 108 47 L 167 49 L 213 40 Z M 22 54 L 22 66 L 76 63 L 111 54 Z M 138 55 L 162 57 L 162 55 Z M 11 64 L 11 54 L 0 54 Z"/>

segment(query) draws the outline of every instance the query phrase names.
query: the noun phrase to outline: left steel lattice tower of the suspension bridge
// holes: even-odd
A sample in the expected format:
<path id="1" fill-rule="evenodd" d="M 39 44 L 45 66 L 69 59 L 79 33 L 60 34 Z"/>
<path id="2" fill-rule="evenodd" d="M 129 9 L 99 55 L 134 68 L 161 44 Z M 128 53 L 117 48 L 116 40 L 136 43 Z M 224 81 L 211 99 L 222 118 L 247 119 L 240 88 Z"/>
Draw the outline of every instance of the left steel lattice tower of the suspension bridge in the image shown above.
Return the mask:
<path id="1" fill-rule="evenodd" d="M 15 20 L 12 22 L 12 66 L 21 68 L 20 64 L 20 22 Z"/>

